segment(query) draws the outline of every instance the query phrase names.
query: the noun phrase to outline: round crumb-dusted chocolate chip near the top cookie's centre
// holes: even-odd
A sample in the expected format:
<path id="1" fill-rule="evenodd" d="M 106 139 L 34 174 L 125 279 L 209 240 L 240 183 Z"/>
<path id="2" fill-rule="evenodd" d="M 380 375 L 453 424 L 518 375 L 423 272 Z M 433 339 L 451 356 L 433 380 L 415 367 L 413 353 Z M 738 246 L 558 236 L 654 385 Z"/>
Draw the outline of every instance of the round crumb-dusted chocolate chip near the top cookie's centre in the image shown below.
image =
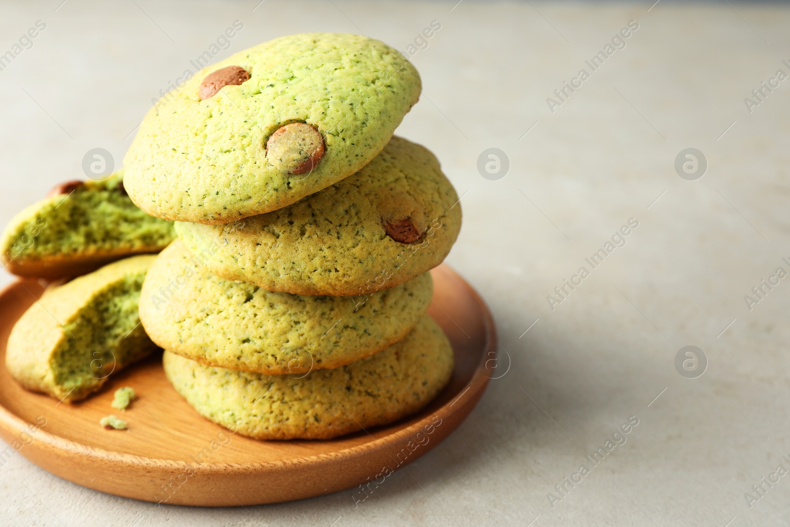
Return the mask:
<path id="1" fill-rule="evenodd" d="M 312 171 L 324 152 L 321 133 L 304 122 L 282 126 L 266 141 L 266 159 L 280 171 L 289 174 Z"/>

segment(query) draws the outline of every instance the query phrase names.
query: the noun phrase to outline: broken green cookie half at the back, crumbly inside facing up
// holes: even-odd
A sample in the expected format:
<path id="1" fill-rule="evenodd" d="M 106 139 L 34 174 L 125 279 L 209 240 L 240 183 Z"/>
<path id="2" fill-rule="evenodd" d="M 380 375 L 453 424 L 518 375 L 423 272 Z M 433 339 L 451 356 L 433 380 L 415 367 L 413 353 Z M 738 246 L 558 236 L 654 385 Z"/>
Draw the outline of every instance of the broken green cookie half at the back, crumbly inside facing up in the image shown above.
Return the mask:
<path id="1" fill-rule="evenodd" d="M 88 273 L 132 254 L 156 253 L 175 236 L 173 224 L 138 209 L 122 174 L 60 186 L 18 213 L 0 237 L 9 272 L 49 279 Z M 73 190 L 73 191 L 72 191 Z"/>

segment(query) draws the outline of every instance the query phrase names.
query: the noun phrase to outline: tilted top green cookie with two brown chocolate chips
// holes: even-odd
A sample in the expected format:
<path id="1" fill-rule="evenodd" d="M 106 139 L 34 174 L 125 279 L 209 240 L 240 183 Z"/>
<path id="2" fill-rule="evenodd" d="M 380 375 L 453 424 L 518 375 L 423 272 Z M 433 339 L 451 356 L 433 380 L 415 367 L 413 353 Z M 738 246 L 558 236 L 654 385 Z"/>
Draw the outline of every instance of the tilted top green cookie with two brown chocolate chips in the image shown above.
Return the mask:
<path id="1" fill-rule="evenodd" d="M 270 40 L 164 96 L 124 159 L 145 212 L 223 224 L 267 213 L 363 168 L 417 102 L 419 74 L 378 40 Z"/>

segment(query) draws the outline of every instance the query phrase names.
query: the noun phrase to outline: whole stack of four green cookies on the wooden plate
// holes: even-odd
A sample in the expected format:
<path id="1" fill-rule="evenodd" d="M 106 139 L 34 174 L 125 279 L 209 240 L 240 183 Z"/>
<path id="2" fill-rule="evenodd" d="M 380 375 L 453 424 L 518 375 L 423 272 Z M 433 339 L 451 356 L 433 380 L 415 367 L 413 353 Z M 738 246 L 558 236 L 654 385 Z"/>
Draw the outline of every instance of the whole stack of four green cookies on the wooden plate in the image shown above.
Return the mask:
<path id="1" fill-rule="evenodd" d="M 419 92 L 393 48 L 305 34 L 210 66 L 145 116 L 124 187 L 179 239 L 149 269 L 140 318 L 201 415 L 329 439 L 449 382 L 428 271 L 461 207 L 431 152 L 393 137 Z"/>

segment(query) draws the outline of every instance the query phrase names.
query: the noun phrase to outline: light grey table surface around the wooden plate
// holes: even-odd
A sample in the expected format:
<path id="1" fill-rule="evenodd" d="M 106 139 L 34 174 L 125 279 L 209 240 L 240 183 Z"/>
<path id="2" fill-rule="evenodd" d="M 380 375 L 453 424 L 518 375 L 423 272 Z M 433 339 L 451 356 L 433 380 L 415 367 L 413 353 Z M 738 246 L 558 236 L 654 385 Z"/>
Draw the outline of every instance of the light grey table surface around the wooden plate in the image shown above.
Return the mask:
<path id="1" fill-rule="evenodd" d="M 790 279 L 771 278 L 790 271 L 790 80 L 776 77 L 790 73 L 790 9 L 455 1 L 0 5 L 0 53 L 46 24 L 0 71 L 3 225 L 54 183 L 84 177 L 89 149 L 120 165 L 152 99 L 236 20 L 243 30 L 218 59 L 311 31 L 417 50 L 423 96 L 397 133 L 433 150 L 463 196 L 447 262 L 487 300 L 498 371 L 509 367 L 446 442 L 359 507 L 341 491 L 156 508 L 17 455 L 0 467 L 0 524 L 790 523 L 790 476 L 776 472 L 790 469 Z M 409 48 L 432 21 L 441 28 L 427 47 Z M 625 47 L 615 40 L 622 49 L 592 70 L 585 60 L 630 21 Z M 573 81 L 582 69 L 589 78 Z M 564 81 L 575 91 L 547 102 Z M 509 161 L 501 179 L 477 168 L 489 148 Z M 705 157 L 702 178 L 675 170 L 687 148 Z M 625 245 L 615 236 L 622 247 L 607 247 L 629 220 Z M 593 268 L 585 258 L 601 248 L 611 252 Z M 574 279 L 581 267 L 589 276 Z M 560 297 L 565 279 L 577 285 Z M 763 279 L 778 284 L 756 297 Z M 702 350 L 702 375 L 675 367 L 687 345 Z M 606 450 L 629 419 L 638 425 Z M 601 446 L 595 465 L 587 456 Z M 581 465 L 589 473 L 574 476 Z"/>

